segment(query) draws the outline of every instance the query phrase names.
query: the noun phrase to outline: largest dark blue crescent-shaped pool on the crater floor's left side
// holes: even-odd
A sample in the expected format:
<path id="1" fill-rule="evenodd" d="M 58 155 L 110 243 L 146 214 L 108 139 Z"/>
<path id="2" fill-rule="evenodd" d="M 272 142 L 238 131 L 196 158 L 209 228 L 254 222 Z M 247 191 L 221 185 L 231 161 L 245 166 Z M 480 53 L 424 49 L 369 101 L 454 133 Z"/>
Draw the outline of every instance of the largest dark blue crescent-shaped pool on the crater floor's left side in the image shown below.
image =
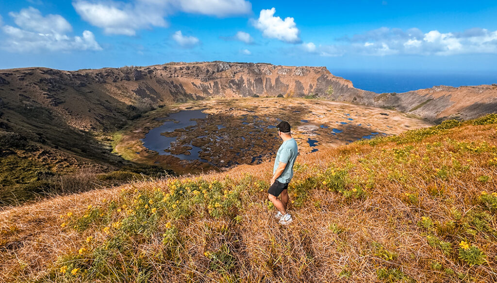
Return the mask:
<path id="1" fill-rule="evenodd" d="M 145 138 L 142 139 L 143 145 L 148 149 L 159 152 L 160 155 L 173 155 L 182 160 L 199 159 L 201 161 L 206 161 L 198 157 L 198 153 L 202 151 L 202 149 L 200 147 L 193 146 L 191 144 L 189 144 L 189 146 L 192 147 L 192 149 L 190 150 L 191 153 L 190 155 L 171 154 L 170 152 L 164 151 L 164 149 L 169 148 L 171 142 L 176 141 L 176 137 L 169 138 L 161 135 L 162 133 L 165 132 L 172 132 L 175 129 L 183 129 L 188 126 L 194 126 L 197 124 L 197 122 L 192 121 L 191 119 L 204 119 L 206 117 L 207 114 L 203 113 L 202 110 L 185 110 L 185 111 L 179 111 L 177 113 L 171 113 L 169 116 L 164 118 L 159 118 L 157 120 L 173 120 L 173 121 L 165 121 L 162 126 L 150 130 L 150 132 L 148 132 L 145 135 Z"/>

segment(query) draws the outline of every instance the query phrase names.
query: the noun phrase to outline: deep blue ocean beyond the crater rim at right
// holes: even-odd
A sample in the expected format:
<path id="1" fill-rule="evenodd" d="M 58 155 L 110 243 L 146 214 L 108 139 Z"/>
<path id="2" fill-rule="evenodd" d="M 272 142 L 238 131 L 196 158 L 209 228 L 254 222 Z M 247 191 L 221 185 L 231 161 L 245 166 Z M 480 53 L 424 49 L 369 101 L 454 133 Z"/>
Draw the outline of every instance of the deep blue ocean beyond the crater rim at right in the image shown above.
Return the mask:
<path id="1" fill-rule="evenodd" d="M 406 92 L 435 85 L 480 85 L 497 83 L 497 72 L 436 71 L 352 71 L 331 70 L 336 76 L 351 80 L 354 87 L 377 93 Z"/>

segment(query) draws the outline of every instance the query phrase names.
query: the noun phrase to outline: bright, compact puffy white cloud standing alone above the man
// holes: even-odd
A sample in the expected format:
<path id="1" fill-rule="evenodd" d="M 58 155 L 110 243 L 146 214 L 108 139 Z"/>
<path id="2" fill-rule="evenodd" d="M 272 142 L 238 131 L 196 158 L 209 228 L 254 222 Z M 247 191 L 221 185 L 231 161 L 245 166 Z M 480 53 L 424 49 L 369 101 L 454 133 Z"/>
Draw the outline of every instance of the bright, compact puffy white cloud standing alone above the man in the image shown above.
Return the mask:
<path id="1" fill-rule="evenodd" d="M 260 11 L 259 18 L 253 20 L 254 27 L 262 31 L 262 35 L 267 38 L 276 38 L 287 43 L 301 43 L 299 29 L 292 17 L 286 17 L 282 20 L 275 17 L 276 9 L 265 9 Z"/>

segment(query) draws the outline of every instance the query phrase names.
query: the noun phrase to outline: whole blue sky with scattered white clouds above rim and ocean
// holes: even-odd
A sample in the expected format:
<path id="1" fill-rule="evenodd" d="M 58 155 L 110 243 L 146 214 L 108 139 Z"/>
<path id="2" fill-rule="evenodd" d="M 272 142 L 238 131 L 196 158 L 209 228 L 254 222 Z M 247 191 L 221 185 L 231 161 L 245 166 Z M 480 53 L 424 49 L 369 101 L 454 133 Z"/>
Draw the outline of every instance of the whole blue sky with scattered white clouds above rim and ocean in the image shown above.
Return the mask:
<path id="1" fill-rule="evenodd" d="M 497 73 L 497 2 L 0 2 L 0 68 L 265 62 Z"/>

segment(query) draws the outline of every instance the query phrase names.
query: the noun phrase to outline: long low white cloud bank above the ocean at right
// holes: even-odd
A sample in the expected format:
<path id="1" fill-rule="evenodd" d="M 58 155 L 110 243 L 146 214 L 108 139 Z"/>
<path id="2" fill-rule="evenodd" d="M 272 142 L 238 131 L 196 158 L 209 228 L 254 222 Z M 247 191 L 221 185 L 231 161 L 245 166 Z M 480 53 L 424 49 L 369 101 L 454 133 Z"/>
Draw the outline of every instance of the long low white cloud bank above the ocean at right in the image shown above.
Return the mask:
<path id="1" fill-rule="evenodd" d="M 316 53 L 322 56 L 359 54 L 388 56 L 395 54 L 438 55 L 488 53 L 497 54 L 497 31 L 473 28 L 461 33 L 441 33 L 432 30 L 423 33 L 417 28 L 403 31 L 386 28 L 338 39 L 341 44 L 319 46 Z M 332 52 L 330 52 L 330 50 Z"/>

